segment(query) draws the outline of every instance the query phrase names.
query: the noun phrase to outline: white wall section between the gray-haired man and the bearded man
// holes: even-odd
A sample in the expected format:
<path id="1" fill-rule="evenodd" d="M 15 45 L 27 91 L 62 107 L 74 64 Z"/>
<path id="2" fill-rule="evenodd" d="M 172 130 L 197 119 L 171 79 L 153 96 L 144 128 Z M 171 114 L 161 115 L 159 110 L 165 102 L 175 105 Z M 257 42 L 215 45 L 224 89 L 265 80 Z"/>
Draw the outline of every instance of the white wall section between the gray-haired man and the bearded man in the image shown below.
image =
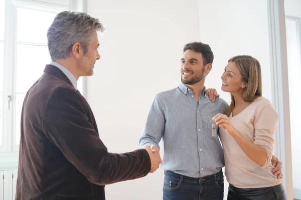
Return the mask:
<path id="1" fill-rule="evenodd" d="M 183 47 L 200 39 L 198 7 L 198 0 L 88 1 L 107 29 L 88 101 L 110 152 L 136 149 L 156 93 L 180 84 Z M 162 199 L 163 175 L 107 185 L 107 199 Z"/>

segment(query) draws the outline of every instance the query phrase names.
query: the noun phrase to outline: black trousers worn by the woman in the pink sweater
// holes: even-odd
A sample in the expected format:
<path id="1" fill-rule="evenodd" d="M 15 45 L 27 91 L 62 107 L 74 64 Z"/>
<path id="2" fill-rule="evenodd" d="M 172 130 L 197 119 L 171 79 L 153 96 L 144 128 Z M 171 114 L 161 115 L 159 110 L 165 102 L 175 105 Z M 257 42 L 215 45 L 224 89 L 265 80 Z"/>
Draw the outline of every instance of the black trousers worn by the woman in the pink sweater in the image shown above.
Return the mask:
<path id="1" fill-rule="evenodd" d="M 228 200 L 286 200 L 284 187 L 281 184 L 261 188 L 237 188 L 229 184 Z"/>

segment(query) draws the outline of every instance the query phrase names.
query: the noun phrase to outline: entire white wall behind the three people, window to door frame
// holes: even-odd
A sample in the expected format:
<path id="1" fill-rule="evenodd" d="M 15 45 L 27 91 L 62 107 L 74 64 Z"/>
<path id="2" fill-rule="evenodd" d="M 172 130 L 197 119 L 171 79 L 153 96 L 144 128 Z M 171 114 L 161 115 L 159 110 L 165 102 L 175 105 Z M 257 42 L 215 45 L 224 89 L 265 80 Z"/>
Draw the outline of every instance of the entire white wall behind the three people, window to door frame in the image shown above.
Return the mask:
<path id="1" fill-rule="evenodd" d="M 100 19 L 100 61 L 88 78 L 88 101 L 100 137 L 111 152 L 137 148 L 156 93 L 180 83 L 185 43 L 210 44 L 215 55 L 207 87 L 220 90 L 227 60 L 256 57 L 262 67 L 263 95 L 271 99 L 267 3 L 264 0 L 88 1 L 88 13 Z M 256 14 L 255 14 L 256 13 Z M 108 199 L 162 199 L 163 171 L 106 186 Z M 225 187 L 225 195 L 227 186 Z"/>

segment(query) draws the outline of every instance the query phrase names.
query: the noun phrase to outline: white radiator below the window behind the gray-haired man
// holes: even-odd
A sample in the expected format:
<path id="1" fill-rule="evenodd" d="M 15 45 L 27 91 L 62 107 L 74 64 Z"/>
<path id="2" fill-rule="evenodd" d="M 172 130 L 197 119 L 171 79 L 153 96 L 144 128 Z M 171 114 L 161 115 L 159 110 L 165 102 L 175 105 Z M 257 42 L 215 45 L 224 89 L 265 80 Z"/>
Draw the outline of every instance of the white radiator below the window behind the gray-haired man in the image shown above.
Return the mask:
<path id="1" fill-rule="evenodd" d="M 17 174 L 17 169 L 0 170 L 0 200 L 15 199 Z"/>

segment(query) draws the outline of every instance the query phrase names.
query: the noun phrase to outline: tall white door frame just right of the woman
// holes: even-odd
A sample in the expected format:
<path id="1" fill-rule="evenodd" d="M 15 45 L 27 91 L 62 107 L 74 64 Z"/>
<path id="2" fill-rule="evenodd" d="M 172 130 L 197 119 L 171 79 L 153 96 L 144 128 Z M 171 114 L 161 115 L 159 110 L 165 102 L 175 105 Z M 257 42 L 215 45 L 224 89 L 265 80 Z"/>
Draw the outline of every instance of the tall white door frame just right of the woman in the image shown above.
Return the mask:
<path id="1" fill-rule="evenodd" d="M 278 113 L 274 154 L 283 163 L 283 186 L 287 199 L 293 198 L 290 113 L 284 0 L 267 0 L 272 104 Z"/>

